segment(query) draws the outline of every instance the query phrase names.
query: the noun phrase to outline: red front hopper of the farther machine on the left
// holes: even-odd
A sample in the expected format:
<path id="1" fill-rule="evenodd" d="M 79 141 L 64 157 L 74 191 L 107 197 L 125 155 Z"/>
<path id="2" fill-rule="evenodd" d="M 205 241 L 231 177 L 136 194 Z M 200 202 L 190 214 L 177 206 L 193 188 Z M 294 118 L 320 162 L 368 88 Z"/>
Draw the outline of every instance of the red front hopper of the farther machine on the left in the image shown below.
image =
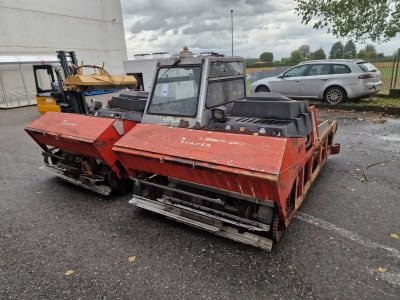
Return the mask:
<path id="1" fill-rule="evenodd" d="M 28 125 L 26 132 L 42 147 L 48 145 L 64 151 L 95 157 L 105 161 L 119 174 L 112 146 L 121 138 L 114 128 L 122 122 L 124 132 L 136 125 L 135 122 L 100 118 L 87 115 L 48 112 Z"/>

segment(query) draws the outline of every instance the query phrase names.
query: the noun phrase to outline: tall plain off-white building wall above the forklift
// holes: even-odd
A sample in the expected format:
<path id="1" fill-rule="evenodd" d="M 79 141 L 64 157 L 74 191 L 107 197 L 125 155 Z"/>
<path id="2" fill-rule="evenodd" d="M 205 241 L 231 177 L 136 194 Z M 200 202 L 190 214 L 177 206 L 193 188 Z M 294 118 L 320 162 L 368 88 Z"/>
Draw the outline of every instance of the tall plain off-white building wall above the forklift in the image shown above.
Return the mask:
<path id="1" fill-rule="evenodd" d="M 75 50 L 122 73 L 127 59 L 119 0 L 0 0 L 0 55 Z"/>

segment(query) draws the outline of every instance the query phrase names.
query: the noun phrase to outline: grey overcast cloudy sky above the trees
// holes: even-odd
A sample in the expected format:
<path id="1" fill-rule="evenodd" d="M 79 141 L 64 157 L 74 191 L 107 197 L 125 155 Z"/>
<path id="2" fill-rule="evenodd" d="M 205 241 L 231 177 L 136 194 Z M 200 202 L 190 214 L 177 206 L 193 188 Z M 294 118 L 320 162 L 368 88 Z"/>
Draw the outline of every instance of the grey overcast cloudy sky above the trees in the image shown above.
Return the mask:
<path id="1" fill-rule="evenodd" d="M 196 53 L 231 54 L 233 9 L 234 54 L 259 57 L 271 51 L 274 59 L 290 56 L 301 45 L 311 51 L 329 51 L 335 37 L 301 24 L 293 0 L 121 0 L 128 57 L 168 51 L 187 45 Z M 347 40 L 342 40 L 345 43 Z M 378 52 L 392 54 L 397 36 L 389 43 L 374 44 Z M 357 45 L 357 50 L 365 45 Z"/>

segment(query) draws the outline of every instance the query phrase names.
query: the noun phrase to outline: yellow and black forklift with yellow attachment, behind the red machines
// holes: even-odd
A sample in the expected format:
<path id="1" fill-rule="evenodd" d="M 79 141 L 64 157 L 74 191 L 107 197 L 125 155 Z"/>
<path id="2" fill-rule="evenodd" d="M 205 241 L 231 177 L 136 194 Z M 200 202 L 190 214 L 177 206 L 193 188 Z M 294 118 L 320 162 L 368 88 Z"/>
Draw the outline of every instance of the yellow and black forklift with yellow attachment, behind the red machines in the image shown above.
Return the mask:
<path id="1" fill-rule="evenodd" d="M 57 58 L 58 64 L 33 66 L 37 109 L 42 114 L 48 111 L 87 114 L 87 96 L 136 87 L 133 76 L 110 75 L 104 65 L 78 66 L 74 51 L 57 51 Z M 91 73 L 85 74 L 88 69 Z"/>

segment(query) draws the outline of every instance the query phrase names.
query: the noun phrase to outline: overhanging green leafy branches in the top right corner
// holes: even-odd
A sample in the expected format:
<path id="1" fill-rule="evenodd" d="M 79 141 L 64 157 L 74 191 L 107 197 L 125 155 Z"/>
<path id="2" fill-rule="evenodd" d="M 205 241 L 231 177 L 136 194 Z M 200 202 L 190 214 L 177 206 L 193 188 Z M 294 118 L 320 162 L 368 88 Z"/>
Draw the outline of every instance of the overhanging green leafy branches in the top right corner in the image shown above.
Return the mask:
<path id="1" fill-rule="evenodd" d="M 305 25 L 326 28 L 336 37 L 355 41 L 386 42 L 400 32 L 398 0 L 295 0 L 297 14 Z"/>

